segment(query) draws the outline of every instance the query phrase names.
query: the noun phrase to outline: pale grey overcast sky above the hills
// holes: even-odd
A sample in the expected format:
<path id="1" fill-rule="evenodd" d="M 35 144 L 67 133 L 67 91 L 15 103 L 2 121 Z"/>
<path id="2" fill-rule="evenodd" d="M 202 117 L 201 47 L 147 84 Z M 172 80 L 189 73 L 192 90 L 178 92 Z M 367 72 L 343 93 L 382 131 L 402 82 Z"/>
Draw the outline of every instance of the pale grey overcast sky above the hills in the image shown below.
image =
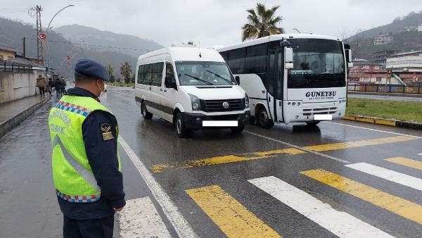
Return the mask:
<path id="1" fill-rule="evenodd" d="M 422 0 L 12 0 L 0 6 L 0 16 L 35 25 L 29 8 L 41 6 L 41 25 L 84 25 L 98 30 L 151 39 L 163 46 L 193 41 L 200 46 L 241 42 L 246 9 L 260 2 L 280 6 L 279 27 L 289 32 L 351 36 L 391 23 L 412 11 L 422 11 Z"/>

